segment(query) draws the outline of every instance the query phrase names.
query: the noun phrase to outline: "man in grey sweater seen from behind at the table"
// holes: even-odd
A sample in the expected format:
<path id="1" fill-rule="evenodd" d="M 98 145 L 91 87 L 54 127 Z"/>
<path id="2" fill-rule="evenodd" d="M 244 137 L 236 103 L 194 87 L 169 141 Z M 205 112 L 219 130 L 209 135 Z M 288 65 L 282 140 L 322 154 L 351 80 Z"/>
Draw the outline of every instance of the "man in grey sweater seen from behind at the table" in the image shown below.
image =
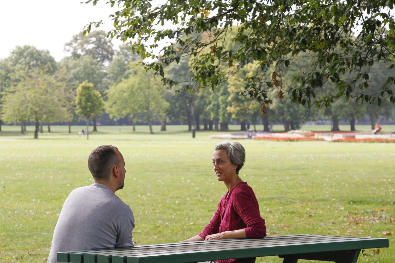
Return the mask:
<path id="1" fill-rule="evenodd" d="M 71 191 L 53 233 L 48 263 L 57 252 L 134 246 L 132 209 L 115 195 L 125 179 L 125 161 L 117 147 L 102 145 L 88 159 L 94 184 Z"/>

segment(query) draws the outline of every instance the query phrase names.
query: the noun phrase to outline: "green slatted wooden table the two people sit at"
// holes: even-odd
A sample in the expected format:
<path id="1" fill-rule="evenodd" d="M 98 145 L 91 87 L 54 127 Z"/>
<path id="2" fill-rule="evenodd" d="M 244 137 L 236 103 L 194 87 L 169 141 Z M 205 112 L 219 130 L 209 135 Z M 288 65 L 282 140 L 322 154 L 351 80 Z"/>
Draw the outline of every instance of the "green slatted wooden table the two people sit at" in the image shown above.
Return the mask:
<path id="1" fill-rule="evenodd" d="M 388 246 L 383 238 L 288 235 L 59 252 L 57 256 L 59 262 L 73 263 L 187 263 L 265 256 L 284 258 L 283 263 L 298 259 L 352 263 L 361 249 Z"/>

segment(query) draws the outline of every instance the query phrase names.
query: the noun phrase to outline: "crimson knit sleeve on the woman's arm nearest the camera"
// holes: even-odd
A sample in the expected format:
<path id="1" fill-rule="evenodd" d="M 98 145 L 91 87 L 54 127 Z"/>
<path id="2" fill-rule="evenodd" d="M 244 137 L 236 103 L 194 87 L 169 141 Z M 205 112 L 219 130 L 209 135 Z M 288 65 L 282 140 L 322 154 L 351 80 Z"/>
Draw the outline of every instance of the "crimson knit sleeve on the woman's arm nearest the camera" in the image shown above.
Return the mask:
<path id="1" fill-rule="evenodd" d="M 234 193 L 233 207 L 246 224 L 247 238 L 263 238 L 266 236 L 265 220 L 261 218 L 258 200 L 252 188 L 238 189 Z"/>

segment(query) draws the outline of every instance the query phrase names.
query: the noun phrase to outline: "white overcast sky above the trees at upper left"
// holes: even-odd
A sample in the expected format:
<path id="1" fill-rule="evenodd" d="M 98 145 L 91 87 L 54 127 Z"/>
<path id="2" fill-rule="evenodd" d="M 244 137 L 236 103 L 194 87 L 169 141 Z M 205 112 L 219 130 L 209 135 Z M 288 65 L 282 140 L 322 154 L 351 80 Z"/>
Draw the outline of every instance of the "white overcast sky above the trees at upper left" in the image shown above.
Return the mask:
<path id="1" fill-rule="evenodd" d="M 106 5 L 105 0 L 96 6 L 80 2 L 83 0 L 0 0 L 0 60 L 16 46 L 32 45 L 49 50 L 60 61 L 67 56 L 64 44 L 89 22 L 105 21 L 96 30 L 107 32 L 111 28 L 108 16 L 116 7 Z M 113 40 L 114 49 L 121 43 Z"/>

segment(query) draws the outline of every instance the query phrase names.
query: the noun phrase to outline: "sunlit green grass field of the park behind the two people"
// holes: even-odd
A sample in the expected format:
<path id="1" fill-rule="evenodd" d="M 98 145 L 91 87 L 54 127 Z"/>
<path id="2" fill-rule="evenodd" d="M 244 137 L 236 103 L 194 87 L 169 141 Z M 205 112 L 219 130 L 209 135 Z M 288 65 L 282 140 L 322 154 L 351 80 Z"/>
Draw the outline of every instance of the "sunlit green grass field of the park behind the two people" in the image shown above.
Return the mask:
<path id="1" fill-rule="evenodd" d="M 166 132 L 155 126 L 155 134 L 147 126 L 134 132 L 130 126 L 98 126 L 87 140 L 77 134 L 81 129 L 73 126 L 68 134 L 66 126 L 52 126 L 34 140 L 33 127 L 21 135 L 17 126 L 2 126 L 0 262 L 46 262 L 62 204 L 71 190 L 93 183 L 87 159 L 102 144 L 115 145 L 124 155 L 125 187 L 117 195 L 134 211 L 136 245 L 180 241 L 211 220 L 227 191 L 211 162 L 221 140 L 209 136 L 218 132 L 198 131 L 192 138 L 181 125 Z M 383 131 L 392 129 L 383 125 Z M 395 262 L 394 143 L 239 142 L 246 149 L 240 176 L 254 189 L 268 235 L 388 238 L 389 248 L 367 249 L 358 262 Z"/>

